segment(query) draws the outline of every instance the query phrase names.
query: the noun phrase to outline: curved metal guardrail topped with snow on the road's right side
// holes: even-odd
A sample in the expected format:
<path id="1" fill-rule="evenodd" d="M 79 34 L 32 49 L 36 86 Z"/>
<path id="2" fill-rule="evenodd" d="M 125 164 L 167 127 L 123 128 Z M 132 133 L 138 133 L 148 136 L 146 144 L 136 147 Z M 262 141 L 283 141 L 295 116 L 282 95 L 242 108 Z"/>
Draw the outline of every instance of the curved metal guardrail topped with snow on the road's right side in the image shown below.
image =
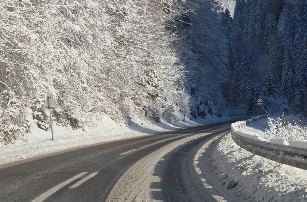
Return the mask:
<path id="1" fill-rule="evenodd" d="M 254 119 L 254 121 L 259 118 Z M 253 121 L 246 120 L 245 122 L 251 123 Z M 241 148 L 266 159 L 307 170 L 307 149 L 250 139 L 243 137 L 240 133 L 241 132 L 235 128 L 235 125 L 231 126 L 231 137 Z"/>

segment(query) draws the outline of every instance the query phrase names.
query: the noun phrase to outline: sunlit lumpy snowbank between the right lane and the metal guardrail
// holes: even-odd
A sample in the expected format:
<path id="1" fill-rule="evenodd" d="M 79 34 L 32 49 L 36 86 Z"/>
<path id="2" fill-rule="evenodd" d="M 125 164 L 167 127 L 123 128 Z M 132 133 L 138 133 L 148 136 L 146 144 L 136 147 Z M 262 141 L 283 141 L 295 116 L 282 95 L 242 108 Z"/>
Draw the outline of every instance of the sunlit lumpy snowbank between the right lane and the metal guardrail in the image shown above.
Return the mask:
<path id="1" fill-rule="evenodd" d="M 235 179 L 233 190 L 247 201 L 307 201 L 306 170 L 254 155 L 235 144 L 230 133 L 217 144 L 212 165 Z"/>

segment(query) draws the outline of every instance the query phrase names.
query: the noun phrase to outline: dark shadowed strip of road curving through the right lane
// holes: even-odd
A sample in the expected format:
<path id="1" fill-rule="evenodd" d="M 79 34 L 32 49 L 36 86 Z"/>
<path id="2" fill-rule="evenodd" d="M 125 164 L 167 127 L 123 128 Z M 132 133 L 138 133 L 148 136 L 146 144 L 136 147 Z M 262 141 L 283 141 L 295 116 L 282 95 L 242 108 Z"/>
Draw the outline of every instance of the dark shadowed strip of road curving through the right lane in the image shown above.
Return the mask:
<path id="1" fill-rule="evenodd" d="M 204 126 L 203 126 L 204 127 Z M 222 128 L 222 130 L 220 130 Z M 161 158 L 155 165 L 153 176 L 158 177 L 160 181 L 152 182 L 151 199 L 160 201 L 218 201 L 212 195 L 213 188 L 206 188 L 196 173 L 193 160 L 198 149 L 209 137 L 219 135 L 229 131 L 227 126 L 221 127 L 216 124 L 210 131 L 219 130 L 208 136 L 200 137 L 180 145 L 173 151 Z M 209 132 L 206 128 L 197 131 L 189 131 L 194 134 Z"/>

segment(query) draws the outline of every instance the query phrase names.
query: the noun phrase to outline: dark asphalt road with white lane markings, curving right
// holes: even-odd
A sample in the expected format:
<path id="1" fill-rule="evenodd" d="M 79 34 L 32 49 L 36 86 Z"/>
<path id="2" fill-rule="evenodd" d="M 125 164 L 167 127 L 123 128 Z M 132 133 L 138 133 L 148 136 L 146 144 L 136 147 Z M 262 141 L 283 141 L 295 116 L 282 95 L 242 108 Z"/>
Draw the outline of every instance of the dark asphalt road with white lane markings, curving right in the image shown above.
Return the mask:
<path id="1" fill-rule="evenodd" d="M 0 201 L 138 201 L 137 198 L 122 196 L 125 189 L 134 187 L 135 190 L 145 186 L 134 181 L 125 181 L 131 175 L 127 170 L 133 168 L 139 169 L 138 173 L 146 172 L 146 167 L 142 167 L 145 164 L 137 163 L 147 159 L 147 164 L 153 165 L 150 161 L 153 157 L 150 155 L 157 151 L 166 152 L 161 148 L 177 148 L 180 145 L 180 149 L 166 152 L 167 158 L 160 160 L 163 165 L 159 169 L 161 181 L 151 182 L 151 186 L 159 186 L 157 190 L 161 191 L 147 193 L 142 200 L 204 199 L 203 191 L 193 190 L 195 181 L 186 181 L 193 178 L 188 177 L 191 173 L 184 169 L 191 164 L 189 159 L 192 157 L 189 153 L 210 137 L 229 132 L 232 122 L 234 121 L 116 140 L 24 163 L 4 165 L 0 169 Z M 142 181 L 145 183 L 146 179 Z"/>

